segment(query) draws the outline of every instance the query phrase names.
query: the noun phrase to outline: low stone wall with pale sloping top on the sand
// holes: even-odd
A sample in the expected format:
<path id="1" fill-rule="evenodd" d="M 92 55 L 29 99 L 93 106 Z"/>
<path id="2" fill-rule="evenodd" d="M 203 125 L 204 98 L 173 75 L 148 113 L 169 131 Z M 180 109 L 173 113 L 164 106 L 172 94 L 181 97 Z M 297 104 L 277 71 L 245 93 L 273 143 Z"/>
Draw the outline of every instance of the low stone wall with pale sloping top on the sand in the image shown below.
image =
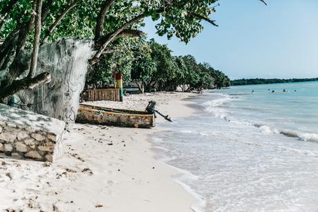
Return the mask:
<path id="1" fill-rule="evenodd" d="M 0 153 L 19 159 L 59 157 L 65 123 L 0 104 Z"/>

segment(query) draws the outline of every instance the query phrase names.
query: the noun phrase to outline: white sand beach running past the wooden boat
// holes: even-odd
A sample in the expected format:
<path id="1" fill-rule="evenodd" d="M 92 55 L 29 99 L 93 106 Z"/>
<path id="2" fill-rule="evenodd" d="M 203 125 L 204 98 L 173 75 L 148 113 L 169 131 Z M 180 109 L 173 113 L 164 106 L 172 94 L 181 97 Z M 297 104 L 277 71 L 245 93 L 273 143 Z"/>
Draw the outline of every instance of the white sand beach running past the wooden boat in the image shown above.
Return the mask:
<path id="1" fill-rule="evenodd" d="M 187 96 L 138 95 L 107 105 L 144 109 L 153 99 L 178 118 L 194 112 L 181 100 Z M 171 178 L 177 171 L 154 159 L 152 133 L 158 129 L 75 124 L 50 166 L 0 158 L 0 211 L 193 211 L 196 200 Z"/>

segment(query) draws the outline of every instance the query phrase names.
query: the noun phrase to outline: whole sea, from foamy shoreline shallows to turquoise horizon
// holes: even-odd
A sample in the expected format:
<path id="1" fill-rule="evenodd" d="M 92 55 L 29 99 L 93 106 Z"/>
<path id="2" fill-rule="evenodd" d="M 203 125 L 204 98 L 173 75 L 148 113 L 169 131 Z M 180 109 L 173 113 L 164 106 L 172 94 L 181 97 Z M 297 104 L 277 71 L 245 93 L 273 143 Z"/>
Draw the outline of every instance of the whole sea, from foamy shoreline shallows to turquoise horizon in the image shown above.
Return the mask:
<path id="1" fill-rule="evenodd" d="M 160 161 L 194 211 L 318 211 L 318 82 L 206 91 L 194 116 L 160 125 Z"/>

